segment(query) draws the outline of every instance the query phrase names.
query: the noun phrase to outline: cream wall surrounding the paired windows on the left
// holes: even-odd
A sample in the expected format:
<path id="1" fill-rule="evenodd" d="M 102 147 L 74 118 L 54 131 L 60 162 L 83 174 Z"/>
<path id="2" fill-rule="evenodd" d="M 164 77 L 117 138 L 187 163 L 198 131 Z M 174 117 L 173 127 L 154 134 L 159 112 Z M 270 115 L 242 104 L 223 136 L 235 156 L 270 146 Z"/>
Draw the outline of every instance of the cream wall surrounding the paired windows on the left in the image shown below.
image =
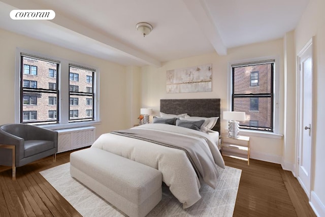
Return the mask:
<path id="1" fill-rule="evenodd" d="M 48 56 L 69 59 L 79 64 L 98 67 L 100 70 L 100 117 L 96 125 L 96 137 L 111 130 L 127 128 L 126 120 L 126 70 L 124 66 L 104 59 L 78 53 L 39 40 L 0 29 L 0 125 L 13 123 L 15 93 L 16 48 L 22 48 Z M 68 112 L 68 111 L 67 111 Z"/>

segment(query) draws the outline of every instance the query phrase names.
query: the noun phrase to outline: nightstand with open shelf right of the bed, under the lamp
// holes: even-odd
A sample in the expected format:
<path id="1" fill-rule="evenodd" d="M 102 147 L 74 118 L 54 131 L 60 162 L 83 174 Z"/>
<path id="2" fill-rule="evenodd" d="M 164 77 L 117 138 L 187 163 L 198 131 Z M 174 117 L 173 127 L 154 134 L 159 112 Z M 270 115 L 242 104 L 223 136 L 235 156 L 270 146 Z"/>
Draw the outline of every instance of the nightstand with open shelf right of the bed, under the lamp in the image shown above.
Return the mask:
<path id="1" fill-rule="evenodd" d="M 222 156 L 244 160 L 249 165 L 249 140 L 248 136 L 239 136 L 237 138 L 222 136 Z"/>

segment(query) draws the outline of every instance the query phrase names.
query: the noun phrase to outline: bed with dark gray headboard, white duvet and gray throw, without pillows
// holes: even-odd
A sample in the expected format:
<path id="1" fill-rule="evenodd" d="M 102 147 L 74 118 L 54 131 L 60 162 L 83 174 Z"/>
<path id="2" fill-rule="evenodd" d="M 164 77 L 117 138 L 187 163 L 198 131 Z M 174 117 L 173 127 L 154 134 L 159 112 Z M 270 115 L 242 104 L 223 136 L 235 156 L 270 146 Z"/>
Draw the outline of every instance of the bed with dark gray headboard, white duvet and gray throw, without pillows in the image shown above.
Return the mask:
<path id="1" fill-rule="evenodd" d="M 220 99 L 160 100 L 160 112 L 173 115 L 186 113 L 190 117 L 220 117 Z M 219 131 L 220 118 L 208 133 L 164 123 L 149 123 L 103 134 L 92 147 L 159 170 L 172 194 L 183 204 L 183 208 L 188 208 L 200 200 L 201 184 L 207 183 L 214 188 L 220 170 L 224 168 L 217 148 Z M 167 139 L 161 142 L 162 138 Z M 178 142 L 186 148 L 190 146 L 190 150 L 184 150 L 183 146 L 170 146 Z"/>

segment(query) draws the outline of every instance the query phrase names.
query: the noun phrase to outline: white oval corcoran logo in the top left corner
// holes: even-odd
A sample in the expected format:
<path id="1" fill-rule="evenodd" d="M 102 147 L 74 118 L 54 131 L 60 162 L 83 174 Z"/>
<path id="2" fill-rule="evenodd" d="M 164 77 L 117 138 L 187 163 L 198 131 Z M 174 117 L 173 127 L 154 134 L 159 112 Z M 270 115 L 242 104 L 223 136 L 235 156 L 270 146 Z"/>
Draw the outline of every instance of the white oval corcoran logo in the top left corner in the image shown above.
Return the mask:
<path id="1" fill-rule="evenodd" d="M 12 10 L 10 18 L 13 20 L 52 20 L 55 17 L 53 10 Z"/>

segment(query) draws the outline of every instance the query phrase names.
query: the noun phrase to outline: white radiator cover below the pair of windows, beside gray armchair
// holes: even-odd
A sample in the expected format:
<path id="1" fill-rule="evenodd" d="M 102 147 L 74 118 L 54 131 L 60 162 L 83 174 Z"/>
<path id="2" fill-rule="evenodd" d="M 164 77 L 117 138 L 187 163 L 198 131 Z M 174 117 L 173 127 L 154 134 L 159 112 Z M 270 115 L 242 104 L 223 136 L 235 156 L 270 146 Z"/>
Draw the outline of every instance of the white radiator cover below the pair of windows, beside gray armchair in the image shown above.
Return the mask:
<path id="1" fill-rule="evenodd" d="M 56 130 L 58 132 L 57 153 L 92 145 L 95 127 Z"/>

